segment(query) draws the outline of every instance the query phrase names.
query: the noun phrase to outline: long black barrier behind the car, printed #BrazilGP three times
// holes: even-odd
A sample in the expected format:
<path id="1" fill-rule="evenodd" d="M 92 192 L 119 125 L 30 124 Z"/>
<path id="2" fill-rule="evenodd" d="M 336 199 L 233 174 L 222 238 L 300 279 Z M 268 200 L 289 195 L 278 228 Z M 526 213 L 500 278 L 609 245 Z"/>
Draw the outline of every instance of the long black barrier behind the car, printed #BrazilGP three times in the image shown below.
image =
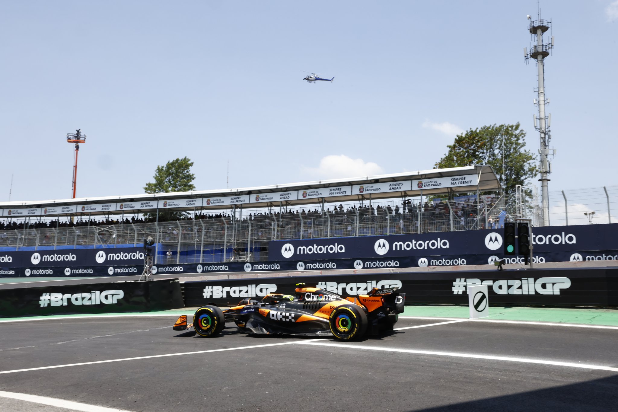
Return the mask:
<path id="1" fill-rule="evenodd" d="M 297 283 L 345 296 L 363 295 L 373 287 L 400 287 L 407 305 L 467 305 L 468 287 L 488 285 L 489 301 L 497 305 L 618 306 L 618 269 L 614 268 L 202 280 L 184 283 L 184 302 L 187 307 L 208 303 L 235 306 L 243 298 L 261 300 L 268 293 L 294 294 Z"/>

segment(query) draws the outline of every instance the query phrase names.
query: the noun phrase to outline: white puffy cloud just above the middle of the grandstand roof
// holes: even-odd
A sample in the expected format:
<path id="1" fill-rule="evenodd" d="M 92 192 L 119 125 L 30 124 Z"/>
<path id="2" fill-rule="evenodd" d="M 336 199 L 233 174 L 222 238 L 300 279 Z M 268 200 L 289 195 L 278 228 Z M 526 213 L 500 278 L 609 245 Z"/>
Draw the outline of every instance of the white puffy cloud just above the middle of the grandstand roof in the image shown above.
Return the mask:
<path id="1" fill-rule="evenodd" d="M 342 179 L 344 177 L 372 176 L 384 170 L 374 162 L 352 159 L 345 154 L 324 156 L 318 167 L 303 167 L 303 172 L 315 179 Z"/>

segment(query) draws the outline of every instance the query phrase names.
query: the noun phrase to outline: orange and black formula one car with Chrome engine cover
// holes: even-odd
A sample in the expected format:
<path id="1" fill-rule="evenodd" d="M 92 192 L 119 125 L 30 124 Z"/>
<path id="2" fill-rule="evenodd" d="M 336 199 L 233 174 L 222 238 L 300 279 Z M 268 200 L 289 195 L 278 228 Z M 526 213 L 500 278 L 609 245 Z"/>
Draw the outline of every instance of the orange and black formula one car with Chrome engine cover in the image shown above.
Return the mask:
<path id="1" fill-rule="evenodd" d="M 192 324 L 187 324 L 187 316 L 182 315 L 174 330 L 193 327 L 198 335 L 213 337 L 221 333 L 226 322 L 235 322 L 248 334 L 332 335 L 351 340 L 393 330 L 404 311 L 405 293 L 397 290 L 373 288 L 368 295 L 343 298 L 328 290 L 297 284 L 295 296 L 273 293 L 261 301 L 245 298 L 238 306 L 225 310 L 213 304 L 202 306 L 195 311 Z"/>

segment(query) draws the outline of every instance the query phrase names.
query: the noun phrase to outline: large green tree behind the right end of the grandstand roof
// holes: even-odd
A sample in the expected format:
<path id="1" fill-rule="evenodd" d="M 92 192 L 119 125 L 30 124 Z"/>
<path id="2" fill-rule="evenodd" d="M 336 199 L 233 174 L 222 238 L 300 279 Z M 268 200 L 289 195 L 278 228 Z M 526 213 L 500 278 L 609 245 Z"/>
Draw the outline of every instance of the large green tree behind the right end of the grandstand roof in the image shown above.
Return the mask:
<path id="1" fill-rule="evenodd" d="M 537 174 L 535 156 L 524 149 L 526 132 L 514 125 L 491 125 L 475 128 L 455 137 L 449 151 L 434 165 L 434 169 L 462 167 L 473 164 L 491 166 L 506 195 L 515 193 L 515 186 Z"/>

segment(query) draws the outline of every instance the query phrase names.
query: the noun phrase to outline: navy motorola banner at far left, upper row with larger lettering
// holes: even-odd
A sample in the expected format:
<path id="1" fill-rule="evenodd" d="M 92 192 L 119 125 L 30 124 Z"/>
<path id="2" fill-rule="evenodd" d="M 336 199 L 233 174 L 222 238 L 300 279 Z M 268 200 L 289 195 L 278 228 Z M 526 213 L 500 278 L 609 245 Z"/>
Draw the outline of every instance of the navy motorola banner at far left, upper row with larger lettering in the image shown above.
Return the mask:
<path id="1" fill-rule="evenodd" d="M 0 251 L 2 269 L 41 267 L 114 266 L 144 263 L 142 248 L 57 249 Z"/>

